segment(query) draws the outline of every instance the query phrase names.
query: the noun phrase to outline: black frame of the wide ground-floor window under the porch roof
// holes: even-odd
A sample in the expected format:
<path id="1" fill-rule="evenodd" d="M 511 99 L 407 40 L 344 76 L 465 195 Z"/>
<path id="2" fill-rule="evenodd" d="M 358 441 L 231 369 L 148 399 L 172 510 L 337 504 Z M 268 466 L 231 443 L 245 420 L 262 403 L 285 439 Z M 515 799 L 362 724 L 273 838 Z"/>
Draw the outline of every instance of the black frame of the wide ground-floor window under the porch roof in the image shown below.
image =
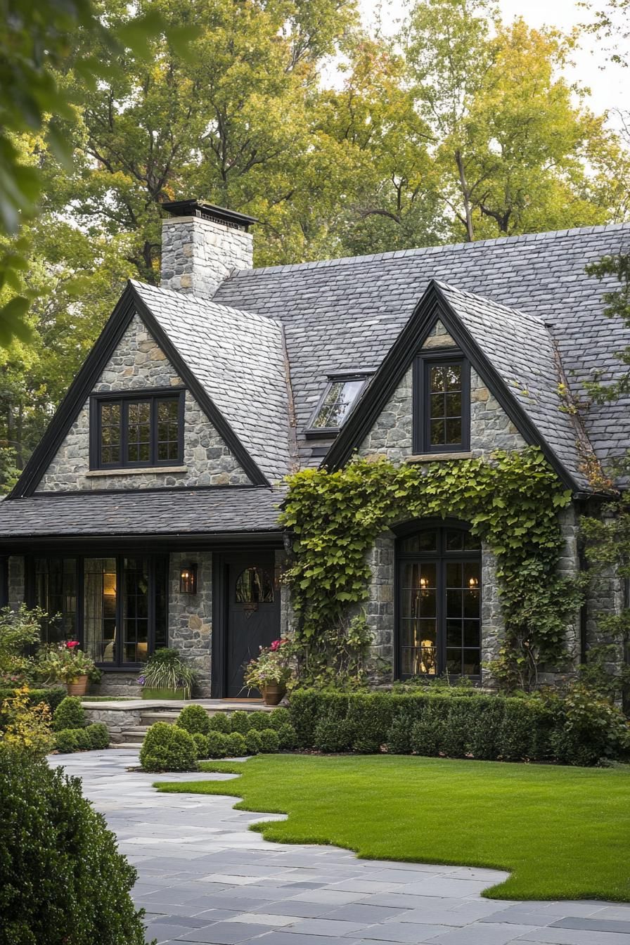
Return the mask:
<path id="1" fill-rule="evenodd" d="M 85 558 L 114 558 L 116 561 L 116 589 L 120 588 L 121 591 L 118 593 L 116 590 L 116 627 L 121 627 L 121 632 L 116 634 L 116 640 L 114 644 L 114 656 L 115 659 L 113 662 L 97 662 L 96 666 L 102 673 L 136 673 L 138 674 L 143 667 L 145 666 L 144 662 L 123 662 L 122 661 L 122 649 L 123 649 L 123 587 L 124 587 L 124 573 L 125 573 L 125 558 L 147 558 L 148 559 L 148 625 L 147 625 L 147 640 L 146 640 L 146 654 L 151 656 L 155 651 L 155 618 L 156 618 L 156 593 L 157 593 L 157 576 L 156 576 L 156 565 L 159 559 L 165 562 L 165 588 L 164 593 L 166 594 L 166 640 L 168 641 L 168 599 L 169 599 L 169 576 L 170 576 L 170 556 L 164 552 L 148 552 L 148 551 L 138 551 L 136 552 L 133 549 L 129 549 L 123 553 L 109 552 L 107 549 L 103 551 L 79 551 L 73 552 L 68 550 L 67 552 L 62 552 L 59 555 L 55 555 L 48 551 L 43 551 L 41 554 L 33 553 L 26 556 L 25 561 L 25 600 L 29 608 L 35 607 L 36 601 L 36 579 L 35 579 L 35 559 L 36 558 L 75 558 L 77 561 L 77 640 L 81 648 L 85 644 L 85 633 L 84 633 L 84 600 L 85 600 Z"/>

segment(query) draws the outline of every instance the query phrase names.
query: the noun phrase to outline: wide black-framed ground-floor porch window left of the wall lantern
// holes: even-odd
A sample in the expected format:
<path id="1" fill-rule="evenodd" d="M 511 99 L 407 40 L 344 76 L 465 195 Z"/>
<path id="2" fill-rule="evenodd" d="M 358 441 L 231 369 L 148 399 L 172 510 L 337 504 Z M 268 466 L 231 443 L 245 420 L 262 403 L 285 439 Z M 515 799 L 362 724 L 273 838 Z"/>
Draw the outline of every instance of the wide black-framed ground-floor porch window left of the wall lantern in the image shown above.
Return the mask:
<path id="1" fill-rule="evenodd" d="M 168 558 L 30 558 L 27 596 L 50 615 L 45 642 L 77 639 L 103 668 L 142 667 L 167 644 Z"/>

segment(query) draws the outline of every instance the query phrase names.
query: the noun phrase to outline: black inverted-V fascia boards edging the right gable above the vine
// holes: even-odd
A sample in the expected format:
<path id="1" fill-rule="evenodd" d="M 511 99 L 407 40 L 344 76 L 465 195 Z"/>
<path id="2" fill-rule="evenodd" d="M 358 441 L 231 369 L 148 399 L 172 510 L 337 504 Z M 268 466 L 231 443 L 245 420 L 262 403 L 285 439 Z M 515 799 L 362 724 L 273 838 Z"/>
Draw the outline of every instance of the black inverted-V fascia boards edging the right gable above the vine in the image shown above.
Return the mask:
<path id="1" fill-rule="evenodd" d="M 501 404 L 503 410 L 519 429 L 522 437 L 532 446 L 539 446 L 543 455 L 557 472 L 562 482 L 573 492 L 583 491 L 575 482 L 570 472 L 560 462 L 545 438 L 540 435 L 536 425 L 527 416 L 512 392 L 505 385 L 501 375 L 481 351 L 479 345 L 468 332 L 468 328 L 451 308 L 439 285 L 431 280 L 422 298 L 417 302 L 414 312 L 390 348 L 383 364 L 364 390 L 359 404 L 350 414 L 342 427 L 341 433 L 332 444 L 322 466 L 334 471 L 348 462 L 358 445 L 363 442 L 383 407 L 396 390 L 405 370 L 422 346 L 435 320 L 442 322 L 458 349 L 468 358 L 473 368 L 483 378 L 491 394 Z"/>

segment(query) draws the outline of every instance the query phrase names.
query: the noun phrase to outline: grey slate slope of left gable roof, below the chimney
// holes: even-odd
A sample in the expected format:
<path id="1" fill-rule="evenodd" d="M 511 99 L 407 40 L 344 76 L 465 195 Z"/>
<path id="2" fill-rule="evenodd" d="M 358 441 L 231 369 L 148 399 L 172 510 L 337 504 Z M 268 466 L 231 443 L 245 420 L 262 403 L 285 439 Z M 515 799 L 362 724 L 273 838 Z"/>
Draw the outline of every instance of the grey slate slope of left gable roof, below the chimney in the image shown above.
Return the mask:
<path id="1" fill-rule="evenodd" d="M 264 475 L 279 482 L 290 466 L 281 323 L 172 289 L 131 284 Z"/>

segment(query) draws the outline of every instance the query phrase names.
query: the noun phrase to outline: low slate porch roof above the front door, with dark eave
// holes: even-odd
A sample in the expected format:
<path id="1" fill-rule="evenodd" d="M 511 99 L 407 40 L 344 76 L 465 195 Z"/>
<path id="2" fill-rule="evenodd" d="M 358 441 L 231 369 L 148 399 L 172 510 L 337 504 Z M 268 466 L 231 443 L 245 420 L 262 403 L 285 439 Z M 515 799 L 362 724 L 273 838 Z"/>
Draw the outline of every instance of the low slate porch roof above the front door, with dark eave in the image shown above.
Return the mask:
<path id="1" fill-rule="evenodd" d="M 39 492 L 0 503 L 0 554 L 32 547 L 282 544 L 281 489 Z"/>

